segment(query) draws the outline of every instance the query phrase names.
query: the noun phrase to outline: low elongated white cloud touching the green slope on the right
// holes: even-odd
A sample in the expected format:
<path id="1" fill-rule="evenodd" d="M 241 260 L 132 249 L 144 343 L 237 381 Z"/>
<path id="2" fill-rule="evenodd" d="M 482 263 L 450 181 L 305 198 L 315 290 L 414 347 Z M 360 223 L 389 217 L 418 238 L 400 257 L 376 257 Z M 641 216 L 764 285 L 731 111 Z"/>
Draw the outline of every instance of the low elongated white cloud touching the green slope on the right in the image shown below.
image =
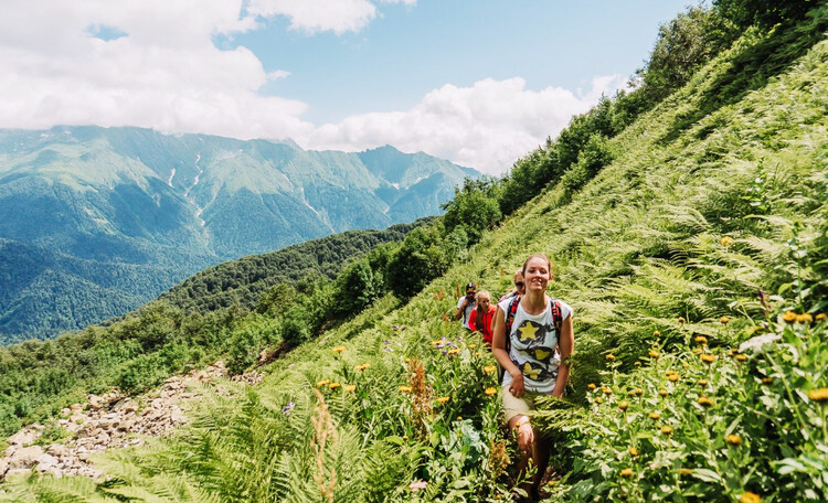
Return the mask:
<path id="1" fill-rule="evenodd" d="M 340 150 L 390 143 L 500 174 L 546 137 L 556 136 L 573 115 L 586 111 L 602 94 L 609 95 L 623 84 L 617 75 L 596 77 L 582 94 L 560 87 L 529 90 L 517 77 L 480 81 L 471 87 L 447 84 L 408 111 L 348 117 L 317 128 L 299 142 Z"/>

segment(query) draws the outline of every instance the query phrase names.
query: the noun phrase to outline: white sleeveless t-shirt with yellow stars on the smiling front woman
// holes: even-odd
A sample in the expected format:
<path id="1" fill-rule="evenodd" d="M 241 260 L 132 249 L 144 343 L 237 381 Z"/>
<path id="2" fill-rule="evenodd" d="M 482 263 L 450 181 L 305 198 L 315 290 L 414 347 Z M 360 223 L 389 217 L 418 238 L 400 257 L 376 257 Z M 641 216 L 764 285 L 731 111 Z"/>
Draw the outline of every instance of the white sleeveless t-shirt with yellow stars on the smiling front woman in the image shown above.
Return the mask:
<path id="1" fill-rule="evenodd" d="M 546 297 L 549 302 L 552 299 Z M 503 311 L 503 320 L 509 317 L 509 304 L 512 299 L 506 299 L 498 304 Z M 566 302 L 561 303 L 562 320 L 572 315 L 572 307 Z M 523 384 L 528 392 L 552 393 L 558 379 L 558 366 L 561 364 L 561 354 L 558 351 L 559 334 L 552 320 L 550 304 L 540 314 L 529 314 L 518 303 L 518 310 L 512 321 L 511 333 L 507 334 L 511 340 L 509 360 L 523 373 Z M 511 384 L 512 376 L 507 372 L 503 374 L 503 386 Z"/>

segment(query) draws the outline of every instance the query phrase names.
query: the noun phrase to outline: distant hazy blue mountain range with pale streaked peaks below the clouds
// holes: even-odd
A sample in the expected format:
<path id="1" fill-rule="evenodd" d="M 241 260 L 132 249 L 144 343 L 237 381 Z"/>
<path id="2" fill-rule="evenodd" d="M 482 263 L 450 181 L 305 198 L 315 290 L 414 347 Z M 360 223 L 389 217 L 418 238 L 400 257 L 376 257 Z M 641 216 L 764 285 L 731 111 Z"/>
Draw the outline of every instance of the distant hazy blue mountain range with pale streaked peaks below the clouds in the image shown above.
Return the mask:
<path id="1" fill-rule="evenodd" d="M 0 342 L 123 314 L 224 260 L 437 214 L 478 176 L 390 146 L 0 130 Z"/>

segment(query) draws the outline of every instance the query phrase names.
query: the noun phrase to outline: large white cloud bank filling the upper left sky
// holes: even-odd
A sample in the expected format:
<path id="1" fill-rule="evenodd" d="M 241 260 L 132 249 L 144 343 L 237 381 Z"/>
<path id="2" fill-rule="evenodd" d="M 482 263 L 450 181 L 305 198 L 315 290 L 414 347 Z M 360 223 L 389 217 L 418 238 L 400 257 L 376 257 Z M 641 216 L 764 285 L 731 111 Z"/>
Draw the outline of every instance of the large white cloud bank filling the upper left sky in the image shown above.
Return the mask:
<path id="1" fill-rule="evenodd" d="M 142 126 L 237 138 L 307 133 L 300 101 L 257 94 L 266 73 L 215 34 L 255 26 L 243 0 L 0 2 L 0 127 Z M 96 38 L 105 26 L 119 36 Z"/>

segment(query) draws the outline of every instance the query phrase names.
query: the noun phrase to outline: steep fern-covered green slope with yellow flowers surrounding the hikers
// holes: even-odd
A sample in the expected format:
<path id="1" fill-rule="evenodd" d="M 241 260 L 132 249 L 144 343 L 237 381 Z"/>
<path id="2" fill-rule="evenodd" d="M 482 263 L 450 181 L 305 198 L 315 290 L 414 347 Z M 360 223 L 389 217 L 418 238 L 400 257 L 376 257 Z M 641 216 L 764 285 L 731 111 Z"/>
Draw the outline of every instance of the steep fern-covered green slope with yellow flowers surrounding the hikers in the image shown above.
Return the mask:
<path id="1" fill-rule="evenodd" d="M 0 499 L 520 500 L 493 358 L 450 317 L 466 282 L 500 293 L 545 253 L 575 354 L 533 418 L 554 445 L 544 501 L 828 500 L 826 30 L 817 2 L 689 9 L 635 90 L 333 290 L 240 319 L 298 344 L 256 388 L 103 457 L 108 481 L 18 475 Z M 373 297 L 346 314 L 348 292 Z"/>

